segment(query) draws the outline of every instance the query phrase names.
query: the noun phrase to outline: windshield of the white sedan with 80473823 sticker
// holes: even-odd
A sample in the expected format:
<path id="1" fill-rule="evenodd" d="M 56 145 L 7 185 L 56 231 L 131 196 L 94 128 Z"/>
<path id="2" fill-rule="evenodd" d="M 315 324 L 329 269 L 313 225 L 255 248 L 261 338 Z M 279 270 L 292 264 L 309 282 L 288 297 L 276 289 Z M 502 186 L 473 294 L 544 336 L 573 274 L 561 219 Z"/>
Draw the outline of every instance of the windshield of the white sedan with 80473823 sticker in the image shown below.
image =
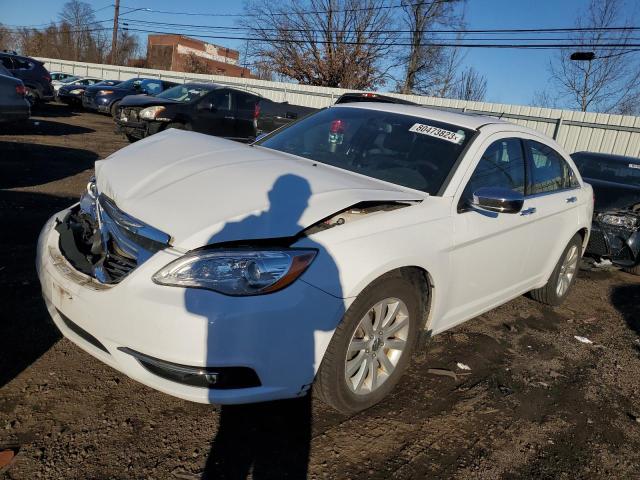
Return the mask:
<path id="1" fill-rule="evenodd" d="M 427 118 L 333 107 L 256 144 L 436 195 L 472 133 Z"/>

